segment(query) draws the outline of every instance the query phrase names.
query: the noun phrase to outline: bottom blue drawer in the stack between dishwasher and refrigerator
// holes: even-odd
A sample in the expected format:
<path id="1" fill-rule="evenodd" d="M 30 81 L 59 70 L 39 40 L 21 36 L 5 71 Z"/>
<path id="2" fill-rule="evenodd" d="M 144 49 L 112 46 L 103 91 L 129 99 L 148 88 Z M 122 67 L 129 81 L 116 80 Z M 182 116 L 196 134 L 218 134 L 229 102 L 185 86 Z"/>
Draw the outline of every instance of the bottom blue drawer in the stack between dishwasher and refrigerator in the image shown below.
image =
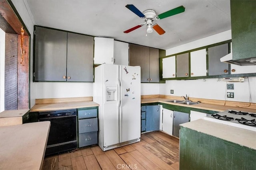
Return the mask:
<path id="1" fill-rule="evenodd" d="M 98 132 L 82 133 L 78 135 L 79 147 L 94 145 L 98 143 Z"/>

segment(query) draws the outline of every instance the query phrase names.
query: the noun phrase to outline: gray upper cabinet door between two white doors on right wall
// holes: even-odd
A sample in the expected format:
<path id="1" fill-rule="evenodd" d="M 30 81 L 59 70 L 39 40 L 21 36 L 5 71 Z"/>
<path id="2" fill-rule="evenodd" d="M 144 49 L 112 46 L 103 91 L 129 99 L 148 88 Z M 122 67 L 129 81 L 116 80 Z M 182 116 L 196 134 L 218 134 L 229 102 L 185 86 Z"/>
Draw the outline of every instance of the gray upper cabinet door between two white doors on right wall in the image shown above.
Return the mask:
<path id="1" fill-rule="evenodd" d="M 176 56 L 176 77 L 188 77 L 188 53 Z"/>

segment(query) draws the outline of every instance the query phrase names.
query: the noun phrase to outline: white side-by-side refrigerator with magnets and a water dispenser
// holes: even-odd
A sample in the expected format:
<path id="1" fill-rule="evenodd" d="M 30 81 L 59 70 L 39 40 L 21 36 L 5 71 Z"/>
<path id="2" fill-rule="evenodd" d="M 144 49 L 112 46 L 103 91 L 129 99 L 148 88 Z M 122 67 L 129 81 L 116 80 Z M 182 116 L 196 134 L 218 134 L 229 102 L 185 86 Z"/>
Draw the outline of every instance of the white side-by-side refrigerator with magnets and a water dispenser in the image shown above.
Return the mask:
<path id="1" fill-rule="evenodd" d="M 99 106 L 100 148 L 140 141 L 140 66 L 102 64 L 95 68 L 93 101 Z"/>

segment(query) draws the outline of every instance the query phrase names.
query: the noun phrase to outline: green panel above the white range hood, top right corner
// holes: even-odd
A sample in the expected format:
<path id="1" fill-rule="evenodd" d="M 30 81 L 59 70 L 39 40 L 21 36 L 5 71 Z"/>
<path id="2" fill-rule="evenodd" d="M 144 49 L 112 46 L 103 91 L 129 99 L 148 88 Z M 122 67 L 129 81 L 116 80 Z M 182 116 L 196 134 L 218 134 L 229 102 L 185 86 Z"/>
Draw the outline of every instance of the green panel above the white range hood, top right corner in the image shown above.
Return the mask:
<path id="1" fill-rule="evenodd" d="M 233 60 L 256 57 L 256 1 L 230 0 Z"/>

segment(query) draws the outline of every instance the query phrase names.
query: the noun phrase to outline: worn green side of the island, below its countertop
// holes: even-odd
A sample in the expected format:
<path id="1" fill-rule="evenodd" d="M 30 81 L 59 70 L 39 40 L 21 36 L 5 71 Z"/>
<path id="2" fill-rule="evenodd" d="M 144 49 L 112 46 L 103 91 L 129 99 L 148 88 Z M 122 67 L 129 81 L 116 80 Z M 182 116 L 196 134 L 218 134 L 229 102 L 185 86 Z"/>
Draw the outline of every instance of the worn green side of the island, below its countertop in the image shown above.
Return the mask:
<path id="1" fill-rule="evenodd" d="M 180 170 L 255 170 L 255 168 L 256 150 L 181 127 Z"/>

